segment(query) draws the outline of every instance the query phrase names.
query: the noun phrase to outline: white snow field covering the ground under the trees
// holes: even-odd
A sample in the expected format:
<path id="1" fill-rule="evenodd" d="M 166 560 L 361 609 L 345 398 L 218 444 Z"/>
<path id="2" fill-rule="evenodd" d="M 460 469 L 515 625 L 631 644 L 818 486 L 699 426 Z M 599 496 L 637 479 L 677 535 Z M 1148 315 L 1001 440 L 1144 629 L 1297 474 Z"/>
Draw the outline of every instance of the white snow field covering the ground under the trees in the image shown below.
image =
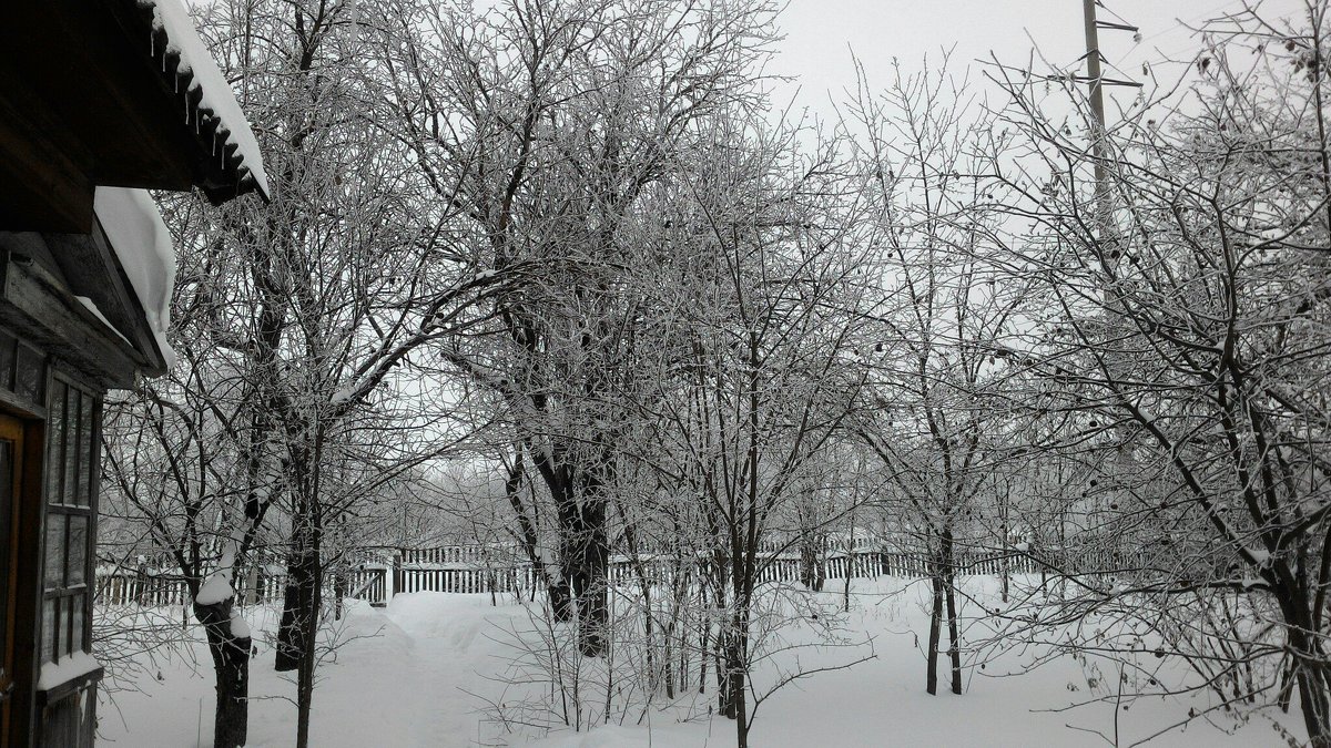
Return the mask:
<path id="1" fill-rule="evenodd" d="M 992 583 L 992 579 L 972 579 L 966 584 L 976 591 Z M 829 580 L 832 590 L 823 594 L 828 606 L 840 600 L 840 584 Z M 1010 647 L 990 656 L 982 671 L 968 668 L 966 692 L 961 696 L 946 692 L 942 672 L 942 692 L 929 696 L 924 691 L 924 656 L 917 644 L 928 638 L 925 584 L 856 580 L 852 592 L 852 612 L 844 622 L 843 636 L 860 642 L 872 638 L 876 657 L 849 669 L 812 675 L 779 691 L 757 708 L 751 733 L 753 745 L 1113 745 L 1117 713 L 1118 744 L 1126 747 L 1185 719 L 1189 708 L 1202 711 L 1207 705 L 1202 697 L 1146 696 L 1115 707 L 1113 691 L 1089 684 L 1098 672 L 1070 656 L 1028 673 L 1008 675 L 1041 655 L 1040 647 Z M 276 611 L 249 610 L 246 616 L 254 624 L 256 642 L 266 642 L 265 636 L 276 627 Z M 178 610 L 176 619 L 180 620 Z M 583 732 L 502 724 L 487 704 L 507 707 L 510 700 L 519 701 L 524 692 L 540 688 L 504 681 L 515 652 L 512 632 L 539 628 L 528 610 L 511 596 L 491 607 L 488 595 L 398 595 L 385 610 L 354 604 L 339 626 L 342 644 L 319 665 L 314 693 L 311 743 L 321 748 L 735 744 L 733 723 L 708 717 L 708 705 L 715 699 L 711 691 L 701 697 L 685 696 L 667 708 L 635 709 L 623 720 L 624 725 Z M 809 636 L 805 630 L 784 639 L 797 642 Z M 862 646 L 788 650 L 764 663 L 756 680 L 769 684 L 777 672 L 789 672 L 797 664 L 804 669 L 835 667 L 866 654 L 869 650 Z M 250 675 L 252 748 L 294 741 L 295 687 L 273 672 L 272 661 L 272 650 L 261 643 Z M 1117 673 L 1117 665 L 1098 665 L 1103 672 Z M 158 656 L 150 672 L 160 673 L 160 680 L 145 679 L 141 692 L 118 692 L 113 703 L 102 696 L 98 744 L 212 745 L 212 669 L 202 643 L 194 640 L 192 657 Z M 1162 681 L 1171 676 L 1155 675 Z M 1094 695 L 1107 700 L 1066 709 Z M 689 715 L 691 720 L 680 721 Z M 1300 736 L 1295 713 L 1274 716 L 1295 737 Z M 1182 729 L 1159 735 L 1150 745 L 1286 745 L 1270 720 L 1270 716 L 1254 717 L 1235 729 L 1225 716 L 1217 716 L 1215 724 L 1197 719 Z"/>

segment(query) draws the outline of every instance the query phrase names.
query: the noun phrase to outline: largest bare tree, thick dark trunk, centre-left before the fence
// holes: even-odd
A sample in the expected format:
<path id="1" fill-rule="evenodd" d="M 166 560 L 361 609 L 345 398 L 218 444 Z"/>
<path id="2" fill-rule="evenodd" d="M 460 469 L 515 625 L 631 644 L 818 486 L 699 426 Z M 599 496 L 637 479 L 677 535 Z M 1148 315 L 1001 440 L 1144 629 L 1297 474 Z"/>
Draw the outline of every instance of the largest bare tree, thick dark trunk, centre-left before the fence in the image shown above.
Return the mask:
<path id="1" fill-rule="evenodd" d="M 586 655 L 606 647 L 606 487 L 635 377 L 622 226 L 691 128 L 756 101 L 771 15 L 767 0 L 563 0 L 402 21 L 434 31 L 394 69 L 407 141 L 503 287 L 491 334 L 442 355 L 506 399 L 552 503 L 548 598 L 579 618 Z"/>

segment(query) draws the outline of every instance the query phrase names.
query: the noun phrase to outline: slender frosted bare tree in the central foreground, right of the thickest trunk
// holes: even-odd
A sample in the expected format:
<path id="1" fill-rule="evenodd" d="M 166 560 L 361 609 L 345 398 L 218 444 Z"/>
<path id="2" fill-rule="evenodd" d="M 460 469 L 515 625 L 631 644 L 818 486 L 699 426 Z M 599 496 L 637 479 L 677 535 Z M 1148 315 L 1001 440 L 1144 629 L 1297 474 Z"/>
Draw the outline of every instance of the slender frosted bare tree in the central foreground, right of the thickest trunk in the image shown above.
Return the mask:
<path id="1" fill-rule="evenodd" d="M 717 620 L 720 708 L 740 745 L 767 693 L 752 692 L 761 656 L 759 583 L 809 470 L 843 429 L 864 385 L 855 359 L 878 305 L 860 226 L 858 172 L 829 140 L 804 154 L 793 128 L 736 117 L 707 133 L 673 210 L 677 248 L 666 273 L 675 375 L 659 426 L 668 483 L 703 506 L 704 567 Z M 677 277 L 675 274 L 679 274 Z M 668 467 L 666 467 L 668 465 Z M 833 518 L 828 518 L 831 522 Z M 809 528 L 805 528 L 809 530 Z"/>

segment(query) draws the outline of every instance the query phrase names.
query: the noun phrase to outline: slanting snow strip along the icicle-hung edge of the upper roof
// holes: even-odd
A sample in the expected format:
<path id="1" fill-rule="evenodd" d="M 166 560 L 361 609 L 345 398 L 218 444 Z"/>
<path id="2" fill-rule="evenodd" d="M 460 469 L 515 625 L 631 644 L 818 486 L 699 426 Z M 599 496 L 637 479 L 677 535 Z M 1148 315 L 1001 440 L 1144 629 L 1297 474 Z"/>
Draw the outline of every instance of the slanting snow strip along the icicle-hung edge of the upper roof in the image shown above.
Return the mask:
<path id="1" fill-rule="evenodd" d="M 268 192 L 268 174 L 264 172 L 264 157 L 258 150 L 258 141 L 250 130 L 249 121 L 236 102 L 236 94 L 222 72 L 217 69 L 212 53 L 204 45 L 194 29 L 194 21 L 189 17 L 189 11 L 181 0 L 137 0 L 140 8 L 152 8 L 153 31 L 166 33 L 166 52 L 180 56 L 176 64 L 177 75 L 190 73 L 193 80 L 190 91 L 202 93 L 200 109 L 212 110 L 213 116 L 221 120 L 222 129 L 228 130 L 226 142 L 236 145 L 236 153 L 244 160 L 242 169 L 248 169 L 254 178 L 260 192 Z"/>

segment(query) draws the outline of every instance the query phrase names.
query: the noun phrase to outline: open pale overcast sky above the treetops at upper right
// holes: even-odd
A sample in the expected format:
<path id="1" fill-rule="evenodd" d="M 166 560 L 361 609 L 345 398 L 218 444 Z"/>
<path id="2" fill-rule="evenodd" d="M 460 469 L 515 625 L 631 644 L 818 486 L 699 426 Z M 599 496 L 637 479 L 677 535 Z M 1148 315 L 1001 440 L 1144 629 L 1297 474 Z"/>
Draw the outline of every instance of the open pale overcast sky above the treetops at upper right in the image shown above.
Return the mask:
<path id="1" fill-rule="evenodd" d="M 1102 0 L 1101 20 L 1141 29 L 1141 43 L 1125 31 L 1101 31 L 1105 56 L 1117 63 L 1115 77 L 1141 79 L 1143 61 L 1189 57 L 1198 40 L 1181 21 L 1242 9 L 1242 0 Z M 1288 16 L 1302 0 L 1264 0 L 1270 17 Z M 1081 0 L 791 0 L 781 15 L 785 40 L 772 72 L 799 77 L 797 104 L 823 110 L 828 91 L 837 94 L 855 81 L 852 51 L 864 63 L 869 83 L 892 80 L 892 59 L 917 71 L 925 55 L 937 60 L 956 45 L 958 71 L 993 52 L 1005 64 L 1025 65 L 1038 45 L 1050 63 L 1069 65 L 1085 53 Z M 777 89 L 785 100 L 795 87 Z M 840 96 L 837 96 L 840 98 Z"/>

